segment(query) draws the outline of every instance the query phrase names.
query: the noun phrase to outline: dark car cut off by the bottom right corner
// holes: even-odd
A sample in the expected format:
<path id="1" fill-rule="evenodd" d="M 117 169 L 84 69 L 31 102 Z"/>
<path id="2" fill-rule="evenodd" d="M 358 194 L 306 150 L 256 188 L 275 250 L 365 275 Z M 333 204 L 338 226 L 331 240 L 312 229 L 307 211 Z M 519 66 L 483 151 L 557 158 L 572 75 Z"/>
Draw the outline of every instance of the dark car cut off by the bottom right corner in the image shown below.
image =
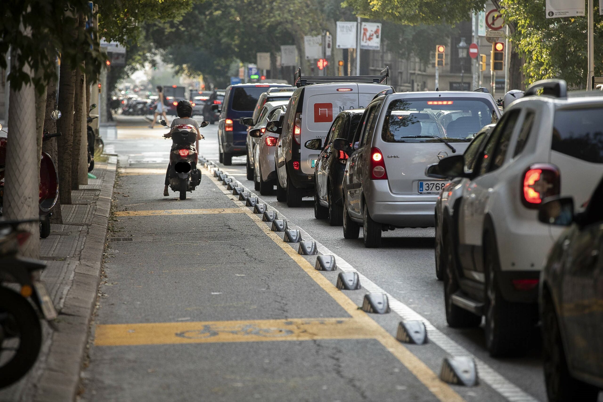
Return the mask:
<path id="1" fill-rule="evenodd" d="M 540 278 L 540 316 L 549 401 L 596 401 L 603 388 L 603 180 L 586 210 L 571 197 L 543 201 L 538 219 L 569 226 Z"/>

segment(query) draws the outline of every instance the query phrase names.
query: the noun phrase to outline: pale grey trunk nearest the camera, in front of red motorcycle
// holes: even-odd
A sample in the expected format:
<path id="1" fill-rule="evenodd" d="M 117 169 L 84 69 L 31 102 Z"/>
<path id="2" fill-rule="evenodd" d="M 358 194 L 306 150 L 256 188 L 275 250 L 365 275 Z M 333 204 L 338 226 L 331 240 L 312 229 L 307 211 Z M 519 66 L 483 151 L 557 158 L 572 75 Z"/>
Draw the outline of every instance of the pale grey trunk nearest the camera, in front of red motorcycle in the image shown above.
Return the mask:
<path id="1" fill-rule="evenodd" d="M 27 34 L 27 31 L 25 32 Z M 19 57 L 13 52 L 11 60 Z M 23 74 L 32 75 L 25 66 Z M 34 87 L 24 85 L 20 90 L 10 89 L 8 107 L 8 140 L 6 150 L 3 214 L 5 219 L 35 219 L 22 228 L 31 236 L 21 246 L 25 257 L 40 254 L 39 169 L 37 169 L 36 94 Z"/>

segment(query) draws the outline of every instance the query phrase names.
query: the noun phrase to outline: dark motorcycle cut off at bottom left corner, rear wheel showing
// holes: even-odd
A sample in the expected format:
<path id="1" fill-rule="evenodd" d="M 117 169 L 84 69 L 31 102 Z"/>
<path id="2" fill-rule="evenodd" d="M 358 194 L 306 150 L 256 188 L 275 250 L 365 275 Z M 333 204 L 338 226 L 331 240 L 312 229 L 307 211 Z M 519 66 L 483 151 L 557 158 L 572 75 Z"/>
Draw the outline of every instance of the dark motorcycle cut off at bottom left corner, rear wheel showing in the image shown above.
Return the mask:
<path id="1" fill-rule="evenodd" d="M 17 227 L 35 221 L 0 220 L 0 388 L 17 382 L 36 363 L 42 346 L 39 315 L 57 318 L 46 287 L 36 279 L 45 263 L 16 255 L 31 236 Z"/>

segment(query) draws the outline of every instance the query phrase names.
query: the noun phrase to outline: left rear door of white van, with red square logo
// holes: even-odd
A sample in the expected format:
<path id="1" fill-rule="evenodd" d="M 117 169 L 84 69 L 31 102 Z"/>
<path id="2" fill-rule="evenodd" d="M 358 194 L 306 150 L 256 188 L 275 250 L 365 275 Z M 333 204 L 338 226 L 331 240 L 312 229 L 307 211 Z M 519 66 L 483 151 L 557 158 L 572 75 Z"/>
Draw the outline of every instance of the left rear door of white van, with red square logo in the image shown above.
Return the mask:
<path id="1" fill-rule="evenodd" d="M 358 84 L 318 84 L 306 87 L 300 136 L 300 165 L 303 173 L 314 174 L 314 163 L 320 154 L 320 150 L 308 149 L 304 143 L 315 138 L 324 141 L 335 116 L 340 111 L 356 108 Z"/>

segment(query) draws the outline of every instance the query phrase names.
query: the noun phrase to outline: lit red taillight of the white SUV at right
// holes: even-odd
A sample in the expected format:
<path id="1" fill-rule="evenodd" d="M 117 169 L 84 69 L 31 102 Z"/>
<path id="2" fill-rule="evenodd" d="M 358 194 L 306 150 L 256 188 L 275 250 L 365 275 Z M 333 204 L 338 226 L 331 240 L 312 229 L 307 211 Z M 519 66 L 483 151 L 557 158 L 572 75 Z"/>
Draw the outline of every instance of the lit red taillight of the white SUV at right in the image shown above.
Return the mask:
<path id="1" fill-rule="evenodd" d="M 522 203 L 537 208 L 542 200 L 560 192 L 559 171 L 548 163 L 535 163 L 523 174 Z"/>

